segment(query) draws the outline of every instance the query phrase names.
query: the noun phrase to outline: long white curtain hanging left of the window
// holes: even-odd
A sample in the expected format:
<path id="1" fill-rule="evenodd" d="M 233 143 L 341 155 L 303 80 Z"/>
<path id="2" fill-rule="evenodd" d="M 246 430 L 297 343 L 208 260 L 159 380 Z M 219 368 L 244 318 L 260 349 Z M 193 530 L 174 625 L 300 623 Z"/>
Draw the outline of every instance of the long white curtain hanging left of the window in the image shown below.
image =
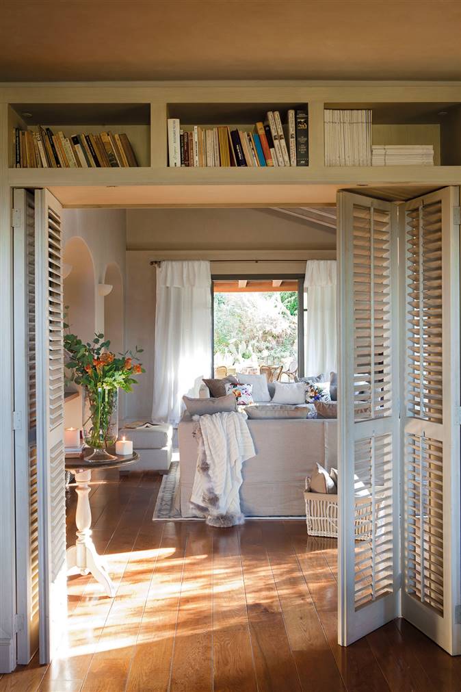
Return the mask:
<path id="1" fill-rule="evenodd" d="M 157 270 L 153 421 L 176 425 L 182 396 L 198 396 L 211 372 L 209 262 L 172 262 Z"/>

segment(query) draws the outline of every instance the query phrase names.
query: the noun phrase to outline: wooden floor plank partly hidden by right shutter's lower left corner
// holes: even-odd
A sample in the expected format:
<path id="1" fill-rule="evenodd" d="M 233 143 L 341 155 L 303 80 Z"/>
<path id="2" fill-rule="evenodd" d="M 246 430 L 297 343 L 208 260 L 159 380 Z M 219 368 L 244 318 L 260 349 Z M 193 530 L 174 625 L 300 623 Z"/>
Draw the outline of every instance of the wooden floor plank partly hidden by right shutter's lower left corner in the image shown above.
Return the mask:
<path id="1" fill-rule="evenodd" d="M 305 527 L 297 522 L 286 522 L 284 526 L 346 689 L 350 692 L 388 691 L 386 678 L 366 639 L 348 647 L 337 643 L 337 583 L 316 539 L 307 536 Z"/>

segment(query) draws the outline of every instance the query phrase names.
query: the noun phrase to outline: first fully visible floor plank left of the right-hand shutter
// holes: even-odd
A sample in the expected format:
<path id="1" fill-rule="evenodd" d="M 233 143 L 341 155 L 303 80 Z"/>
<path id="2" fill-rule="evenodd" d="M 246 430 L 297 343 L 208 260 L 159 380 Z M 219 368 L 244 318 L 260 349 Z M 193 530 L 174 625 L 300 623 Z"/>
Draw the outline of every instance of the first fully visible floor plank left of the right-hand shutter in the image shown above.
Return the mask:
<path id="1" fill-rule="evenodd" d="M 303 691 L 344 690 L 325 632 L 285 529 L 266 522 L 263 537 Z M 319 660 L 321 665 L 319 665 Z"/>

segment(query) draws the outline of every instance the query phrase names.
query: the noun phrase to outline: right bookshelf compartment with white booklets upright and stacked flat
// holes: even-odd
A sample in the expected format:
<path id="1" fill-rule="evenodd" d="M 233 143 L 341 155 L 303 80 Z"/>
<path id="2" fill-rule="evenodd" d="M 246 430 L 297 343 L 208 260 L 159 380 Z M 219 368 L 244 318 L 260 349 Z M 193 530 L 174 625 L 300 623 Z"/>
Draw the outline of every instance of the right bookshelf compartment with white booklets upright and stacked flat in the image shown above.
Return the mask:
<path id="1" fill-rule="evenodd" d="M 364 146 L 381 147 L 371 156 L 370 163 L 344 163 L 345 149 L 357 142 L 357 131 L 350 125 L 338 122 L 328 125 L 331 113 L 326 111 L 371 111 L 370 140 Z M 461 104 L 453 102 L 411 103 L 326 103 L 324 104 L 325 165 L 461 165 Z M 330 127 L 330 134 L 328 134 Z M 352 126 L 353 128 L 354 126 Z M 346 136 L 342 132 L 348 131 Z M 431 147 L 424 151 L 419 147 Z M 330 154 L 328 154 L 330 147 Z M 340 151 L 342 147 L 342 151 Z M 391 147 L 383 149 L 382 147 Z M 412 147 L 397 149 L 396 147 Z M 332 154 L 333 152 L 333 154 Z M 341 163 L 332 163 L 338 161 Z M 373 158 L 373 163 L 371 159 Z M 349 158 L 350 160 L 350 158 Z M 385 163 L 384 163 L 385 162 Z M 407 163 L 408 162 L 408 163 Z"/>

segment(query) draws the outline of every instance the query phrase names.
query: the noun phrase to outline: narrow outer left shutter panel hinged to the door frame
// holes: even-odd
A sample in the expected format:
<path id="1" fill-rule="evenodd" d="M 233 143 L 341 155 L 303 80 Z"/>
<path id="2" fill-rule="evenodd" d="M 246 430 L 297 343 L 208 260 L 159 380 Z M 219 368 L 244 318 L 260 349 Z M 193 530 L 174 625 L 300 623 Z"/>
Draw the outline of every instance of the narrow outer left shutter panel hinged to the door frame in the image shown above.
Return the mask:
<path id="1" fill-rule="evenodd" d="M 17 662 L 28 664 L 39 644 L 37 392 L 35 387 L 35 201 L 15 190 L 15 480 Z"/>

